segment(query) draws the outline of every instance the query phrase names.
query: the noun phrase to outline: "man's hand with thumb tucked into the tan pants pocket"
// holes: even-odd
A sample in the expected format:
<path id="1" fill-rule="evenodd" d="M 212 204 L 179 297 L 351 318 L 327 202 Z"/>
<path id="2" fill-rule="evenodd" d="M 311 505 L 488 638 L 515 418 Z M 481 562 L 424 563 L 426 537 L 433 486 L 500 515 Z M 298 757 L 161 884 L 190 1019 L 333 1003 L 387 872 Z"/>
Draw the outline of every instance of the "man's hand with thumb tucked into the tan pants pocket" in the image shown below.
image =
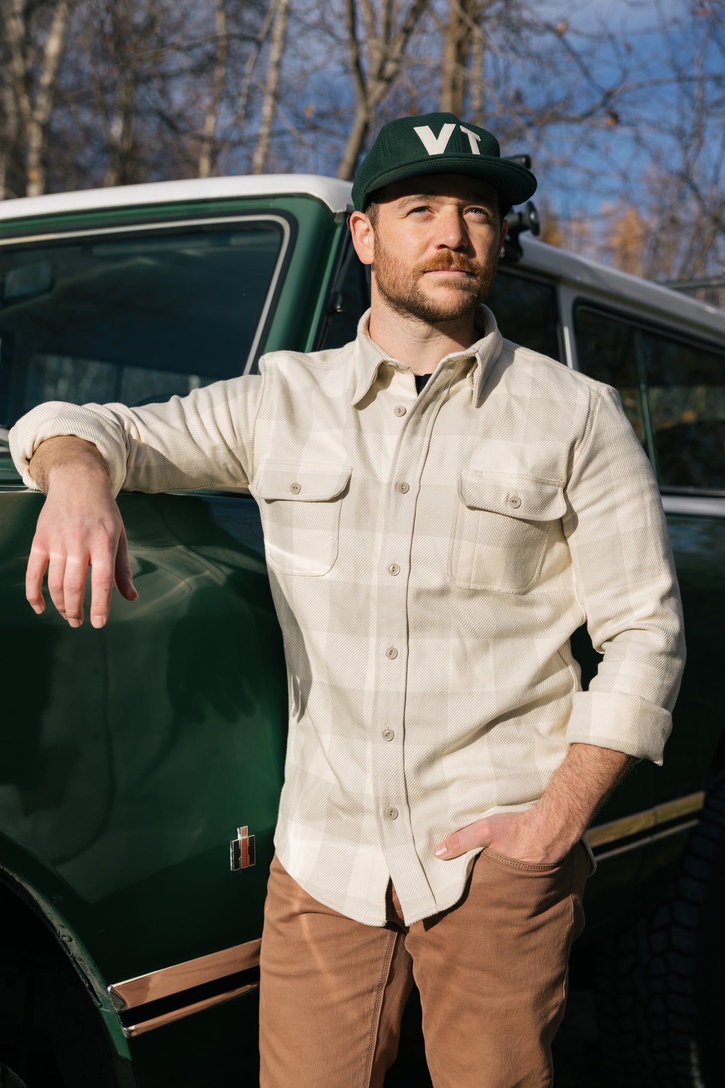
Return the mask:
<path id="1" fill-rule="evenodd" d="M 578 838 L 578 836 L 576 837 Z M 517 862 L 557 865 L 576 842 L 565 828 L 545 828 L 535 808 L 525 813 L 498 813 L 462 827 L 439 843 L 434 853 L 442 861 L 460 857 L 478 846 L 490 846 Z"/>

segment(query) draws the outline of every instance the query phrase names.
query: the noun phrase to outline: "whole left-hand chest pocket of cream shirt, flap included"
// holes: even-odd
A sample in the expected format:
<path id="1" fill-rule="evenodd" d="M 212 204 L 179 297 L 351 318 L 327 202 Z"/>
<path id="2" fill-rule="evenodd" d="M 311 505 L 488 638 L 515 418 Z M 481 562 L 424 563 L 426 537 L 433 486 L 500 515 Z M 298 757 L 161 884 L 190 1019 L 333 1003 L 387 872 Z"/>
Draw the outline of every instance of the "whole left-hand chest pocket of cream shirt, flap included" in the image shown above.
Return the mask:
<path id="1" fill-rule="evenodd" d="M 253 483 L 266 558 L 283 574 L 326 574 L 335 565 L 340 507 L 352 468 L 265 461 Z"/>

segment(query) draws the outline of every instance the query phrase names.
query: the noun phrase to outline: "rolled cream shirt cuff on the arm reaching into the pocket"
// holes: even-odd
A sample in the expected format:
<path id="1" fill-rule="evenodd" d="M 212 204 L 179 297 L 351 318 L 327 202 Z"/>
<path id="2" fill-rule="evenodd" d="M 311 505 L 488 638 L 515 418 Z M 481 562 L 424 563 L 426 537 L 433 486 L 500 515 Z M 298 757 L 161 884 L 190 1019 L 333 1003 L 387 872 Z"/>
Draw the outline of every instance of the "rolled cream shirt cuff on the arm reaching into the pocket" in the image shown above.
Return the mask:
<path id="1" fill-rule="evenodd" d="M 566 727 L 570 744 L 598 744 L 662 766 L 672 715 L 637 695 L 609 691 L 579 691 L 574 695 Z"/>

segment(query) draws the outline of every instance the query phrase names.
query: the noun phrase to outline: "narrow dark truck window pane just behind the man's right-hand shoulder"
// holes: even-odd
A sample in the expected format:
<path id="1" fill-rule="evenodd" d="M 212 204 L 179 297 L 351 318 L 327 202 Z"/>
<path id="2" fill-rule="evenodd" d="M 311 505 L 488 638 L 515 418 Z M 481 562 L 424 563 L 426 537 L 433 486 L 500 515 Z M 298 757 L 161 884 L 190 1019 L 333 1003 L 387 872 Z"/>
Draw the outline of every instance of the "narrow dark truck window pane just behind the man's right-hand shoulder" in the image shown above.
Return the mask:
<path id="1" fill-rule="evenodd" d="M 627 419 L 647 449 L 643 383 L 637 364 L 635 326 L 608 313 L 577 306 L 574 333 L 579 369 L 589 378 L 616 388 Z"/>

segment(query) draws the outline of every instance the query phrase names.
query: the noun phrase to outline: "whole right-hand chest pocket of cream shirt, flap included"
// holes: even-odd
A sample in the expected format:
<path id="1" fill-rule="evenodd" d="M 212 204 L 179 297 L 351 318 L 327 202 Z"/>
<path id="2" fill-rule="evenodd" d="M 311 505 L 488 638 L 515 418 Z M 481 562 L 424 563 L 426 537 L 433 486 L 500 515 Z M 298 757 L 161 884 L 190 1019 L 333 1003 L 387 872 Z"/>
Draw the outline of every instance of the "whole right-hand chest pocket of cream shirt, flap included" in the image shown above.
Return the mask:
<path id="1" fill-rule="evenodd" d="M 561 484 L 466 469 L 459 478 L 448 573 L 466 590 L 523 593 L 566 512 Z"/>

